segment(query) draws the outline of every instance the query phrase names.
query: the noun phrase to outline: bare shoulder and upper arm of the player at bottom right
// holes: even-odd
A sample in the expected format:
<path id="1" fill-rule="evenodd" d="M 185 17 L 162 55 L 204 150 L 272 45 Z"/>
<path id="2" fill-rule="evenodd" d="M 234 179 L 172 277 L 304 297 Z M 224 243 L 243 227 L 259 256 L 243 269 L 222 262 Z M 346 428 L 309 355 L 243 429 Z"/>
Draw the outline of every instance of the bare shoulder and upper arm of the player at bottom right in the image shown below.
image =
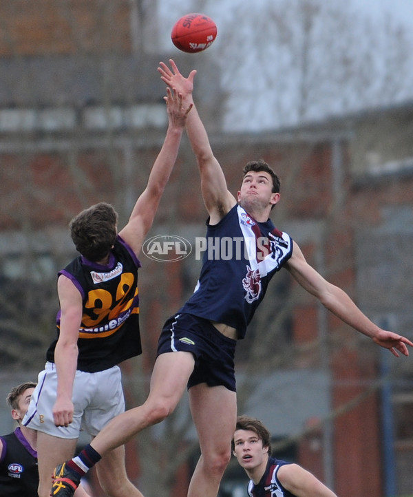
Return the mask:
<path id="1" fill-rule="evenodd" d="M 337 497 L 324 483 L 297 464 L 286 464 L 277 473 L 282 486 L 297 497 Z"/>

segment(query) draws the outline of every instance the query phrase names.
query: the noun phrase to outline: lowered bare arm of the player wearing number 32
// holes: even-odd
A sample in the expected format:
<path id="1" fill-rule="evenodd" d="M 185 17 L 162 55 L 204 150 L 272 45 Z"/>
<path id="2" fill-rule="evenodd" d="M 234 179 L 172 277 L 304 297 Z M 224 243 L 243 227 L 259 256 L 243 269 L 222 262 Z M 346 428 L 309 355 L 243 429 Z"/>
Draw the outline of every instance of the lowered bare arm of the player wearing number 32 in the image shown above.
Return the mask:
<path id="1" fill-rule="evenodd" d="M 67 426 L 73 421 L 72 391 L 77 367 L 79 326 L 82 319 L 82 297 L 78 289 L 64 275 L 57 280 L 61 304 L 61 328 L 54 358 L 58 377 L 54 424 Z"/>

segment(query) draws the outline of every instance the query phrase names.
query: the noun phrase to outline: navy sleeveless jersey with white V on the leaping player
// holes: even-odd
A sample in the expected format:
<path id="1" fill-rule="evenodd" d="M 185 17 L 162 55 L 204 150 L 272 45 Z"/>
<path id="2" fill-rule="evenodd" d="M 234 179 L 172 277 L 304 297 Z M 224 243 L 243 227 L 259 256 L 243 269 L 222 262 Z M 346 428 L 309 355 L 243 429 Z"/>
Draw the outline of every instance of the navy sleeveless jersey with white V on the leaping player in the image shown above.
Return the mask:
<path id="1" fill-rule="evenodd" d="M 293 240 L 239 205 L 207 226 L 200 278 L 179 312 L 232 326 L 242 339 L 268 283 L 291 257 Z"/>

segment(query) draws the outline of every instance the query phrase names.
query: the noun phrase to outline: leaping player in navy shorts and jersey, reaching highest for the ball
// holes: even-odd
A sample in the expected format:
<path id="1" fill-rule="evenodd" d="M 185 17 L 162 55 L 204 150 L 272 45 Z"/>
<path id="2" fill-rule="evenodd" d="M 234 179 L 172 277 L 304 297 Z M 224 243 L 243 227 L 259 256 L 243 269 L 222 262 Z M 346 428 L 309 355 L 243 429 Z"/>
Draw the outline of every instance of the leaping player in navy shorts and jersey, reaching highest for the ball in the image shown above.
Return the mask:
<path id="1" fill-rule="evenodd" d="M 207 240 L 219 244 L 221 237 L 230 237 L 233 253 L 242 257 L 209 258 L 209 251 L 205 251 L 195 292 L 166 321 L 161 332 L 147 400 L 113 419 L 92 441 L 89 450 L 102 456 L 145 427 L 159 423 L 173 412 L 187 387 L 201 450 L 188 495 L 215 497 L 231 458 L 237 418 L 235 344 L 244 337 L 269 280 L 280 268 L 286 268 L 305 290 L 346 324 L 388 348 L 396 357 L 399 352 L 408 355 L 407 345 L 413 343 L 372 323 L 343 290 L 327 282 L 306 262 L 287 233 L 275 228 L 269 216 L 280 199 L 279 179 L 266 162 L 248 162 L 237 195 L 228 190 L 193 104 L 195 71 L 184 78 L 176 64 L 170 64 L 171 69 L 160 63 L 162 81 L 184 96 L 185 105 L 193 106 L 187 118 L 187 135 L 198 160 L 202 196 L 209 213 Z M 262 240 L 266 240 L 265 246 Z M 87 459 L 87 452 L 83 451 L 59 465 L 55 469 L 54 488 L 67 478 L 76 487 L 93 465 Z M 54 495 L 72 494 L 61 491 Z"/>

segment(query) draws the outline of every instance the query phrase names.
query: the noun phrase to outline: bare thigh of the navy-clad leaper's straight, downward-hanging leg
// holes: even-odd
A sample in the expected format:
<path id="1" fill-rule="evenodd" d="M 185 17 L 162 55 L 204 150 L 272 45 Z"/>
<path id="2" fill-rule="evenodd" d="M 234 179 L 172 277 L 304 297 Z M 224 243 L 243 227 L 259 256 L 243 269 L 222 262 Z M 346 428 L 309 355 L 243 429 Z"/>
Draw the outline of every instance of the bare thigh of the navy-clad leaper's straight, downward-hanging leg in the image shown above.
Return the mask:
<path id="1" fill-rule="evenodd" d="M 229 450 L 237 419 L 236 393 L 200 383 L 189 389 L 189 404 L 203 454 Z"/>

